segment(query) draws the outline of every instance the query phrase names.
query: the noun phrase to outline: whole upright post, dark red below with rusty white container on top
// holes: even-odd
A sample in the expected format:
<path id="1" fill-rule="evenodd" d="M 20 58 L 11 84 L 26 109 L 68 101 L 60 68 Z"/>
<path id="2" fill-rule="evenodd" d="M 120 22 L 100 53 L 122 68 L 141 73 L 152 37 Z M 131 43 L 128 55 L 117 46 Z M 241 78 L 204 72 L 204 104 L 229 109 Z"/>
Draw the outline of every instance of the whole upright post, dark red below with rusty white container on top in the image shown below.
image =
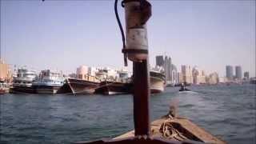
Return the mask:
<path id="1" fill-rule="evenodd" d="M 146 22 L 151 5 L 146 0 L 124 0 L 126 12 L 126 50 L 133 61 L 135 136 L 150 135 L 150 74 Z"/>

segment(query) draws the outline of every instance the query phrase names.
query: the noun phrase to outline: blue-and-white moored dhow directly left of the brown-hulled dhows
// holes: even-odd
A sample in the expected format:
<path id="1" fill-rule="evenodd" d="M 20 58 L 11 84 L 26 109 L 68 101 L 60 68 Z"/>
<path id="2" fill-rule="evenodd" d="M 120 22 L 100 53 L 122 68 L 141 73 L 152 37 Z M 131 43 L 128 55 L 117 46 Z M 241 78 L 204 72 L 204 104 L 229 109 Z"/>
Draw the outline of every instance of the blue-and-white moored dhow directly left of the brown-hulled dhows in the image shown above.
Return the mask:
<path id="1" fill-rule="evenodd" d="M 42 70 L 36 82 L 33 82 L 38 94 L 57 94 L 64 85 L 63 74 L 50 70 Z"/>

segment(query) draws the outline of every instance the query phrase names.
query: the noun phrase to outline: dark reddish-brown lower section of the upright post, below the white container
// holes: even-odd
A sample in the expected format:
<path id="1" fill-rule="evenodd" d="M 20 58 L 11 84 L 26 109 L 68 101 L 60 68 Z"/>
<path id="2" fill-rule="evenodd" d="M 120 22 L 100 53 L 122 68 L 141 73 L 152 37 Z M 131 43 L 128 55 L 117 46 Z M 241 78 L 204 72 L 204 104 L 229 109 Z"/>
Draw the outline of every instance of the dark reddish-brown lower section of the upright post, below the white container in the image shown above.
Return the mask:
<path id="1" fill-rule="evenodd" d="M 134 62 L 135 135 L 150 135 L 150 80 L 148 61 Z"/>

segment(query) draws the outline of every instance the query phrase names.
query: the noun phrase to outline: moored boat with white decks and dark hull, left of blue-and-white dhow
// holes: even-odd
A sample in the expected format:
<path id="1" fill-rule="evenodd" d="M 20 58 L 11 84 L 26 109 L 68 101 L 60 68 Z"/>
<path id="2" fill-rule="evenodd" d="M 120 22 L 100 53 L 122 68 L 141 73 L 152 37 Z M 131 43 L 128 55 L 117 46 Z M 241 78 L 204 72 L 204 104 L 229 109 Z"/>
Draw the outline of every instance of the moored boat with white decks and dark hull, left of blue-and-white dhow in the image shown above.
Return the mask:
<path id="1" fill-rule="evenodd" d="M 19 68 L 17 76 L 14 77 L 12 93 L 22 93 L 22 94 L 34 94 L 35 88 L 32 83 L 37 78 L 37 74 L 34 70 L 28 70 L 26 68 Z"/>

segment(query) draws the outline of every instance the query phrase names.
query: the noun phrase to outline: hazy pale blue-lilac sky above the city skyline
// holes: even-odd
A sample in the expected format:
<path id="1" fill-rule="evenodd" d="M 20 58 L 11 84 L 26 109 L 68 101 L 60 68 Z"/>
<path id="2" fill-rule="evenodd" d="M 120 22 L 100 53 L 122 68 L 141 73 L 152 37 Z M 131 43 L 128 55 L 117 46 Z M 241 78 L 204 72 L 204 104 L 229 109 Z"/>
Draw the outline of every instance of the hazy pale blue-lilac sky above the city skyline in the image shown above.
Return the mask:
<path id="1" fill-rule="evenodd" d="M 187 64 L 224 76 L 226 65 L 240 65 L 255 75 L 255 1 L 150 2 L 151 66 L 167 54 L 178 69 Z M 6 62 L 36 70 L 123 66 L 114 0 L 2 0 L 1 48 Z"/>

